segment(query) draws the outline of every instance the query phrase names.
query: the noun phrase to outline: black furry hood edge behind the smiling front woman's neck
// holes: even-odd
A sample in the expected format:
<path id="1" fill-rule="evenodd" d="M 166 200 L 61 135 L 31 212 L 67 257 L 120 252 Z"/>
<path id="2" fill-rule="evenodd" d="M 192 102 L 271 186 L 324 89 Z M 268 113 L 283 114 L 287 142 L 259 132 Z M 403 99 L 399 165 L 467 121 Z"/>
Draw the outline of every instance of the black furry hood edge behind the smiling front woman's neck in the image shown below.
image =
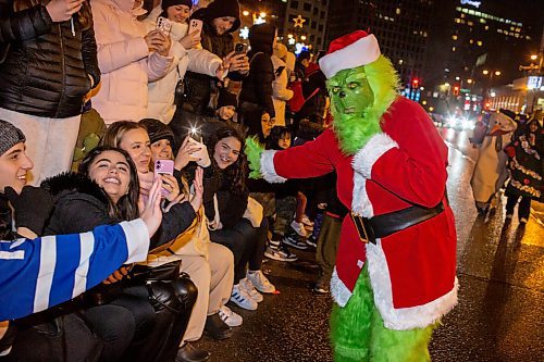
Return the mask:
<path id="1" fill-rule="evenodd" d="M 75 172 L 65 172 L 49 177 L 41 183 L 40 187 L 51 194 L 55 203 L 69 194 L 88 195 L 104 204 L 110 202 L 108 195 L 97 183 L 88 176 Z"/>

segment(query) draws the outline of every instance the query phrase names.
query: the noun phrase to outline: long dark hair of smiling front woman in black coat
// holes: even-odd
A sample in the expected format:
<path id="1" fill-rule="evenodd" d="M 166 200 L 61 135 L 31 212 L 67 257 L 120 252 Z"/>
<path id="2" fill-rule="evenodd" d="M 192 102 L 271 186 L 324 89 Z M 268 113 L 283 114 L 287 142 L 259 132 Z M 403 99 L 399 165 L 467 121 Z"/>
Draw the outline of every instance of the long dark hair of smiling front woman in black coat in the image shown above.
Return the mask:
<path id="1" fill-rule="evenodd" d="M 86 175 L 87 177 L 89 176 L 89 167 L 92 164 L 92 162 L 100 155 L 102 152 L 106 151 L 115 151 L 118 153 L 121 153 L 124 158 L 126 163 L 128 164 L 129 168 L 129 175 L 131 179 L 128 182 L 128 192 L 126 195 L 123 195 L 118 203 L 114 203 L 111 198 L 108 198 L 110 200 L 108 204 L 108 215 L 112 219 L 119 220 L 119 221 L 128 221 L 128 220 L 134 220 L 139 217 L 139 212 L 138 212 L 138 197 L 139 197 L 139 182 L 138 182 L 138 171 L 136 170 L 136 165 L 134 164 L 133 160 L 131 159 L 131 155 L 125 151 L 116 147 L 110 147 L 110 146 L 99 146 L 83 159 L 82 164 L 79 164 L 79 173 Z"/>

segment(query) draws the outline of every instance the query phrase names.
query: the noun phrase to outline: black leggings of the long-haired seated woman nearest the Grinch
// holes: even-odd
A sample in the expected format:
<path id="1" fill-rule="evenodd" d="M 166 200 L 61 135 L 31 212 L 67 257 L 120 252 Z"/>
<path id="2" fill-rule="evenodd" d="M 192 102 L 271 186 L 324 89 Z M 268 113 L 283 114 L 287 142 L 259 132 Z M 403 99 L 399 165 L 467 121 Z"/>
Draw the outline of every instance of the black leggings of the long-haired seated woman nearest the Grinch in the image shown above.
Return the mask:
<path id="1" fill-rule="evenodd" d="M 267 217 L 262 219 L 259 227 L 254 227 L 247 219 L 240 219 L 233 228 L 210 232 L 213 242 L 227 247 L 234 254 L 235 285 L 246 276 L 246 265 L 250 271 L 261 269 L 268 228 Z"/>

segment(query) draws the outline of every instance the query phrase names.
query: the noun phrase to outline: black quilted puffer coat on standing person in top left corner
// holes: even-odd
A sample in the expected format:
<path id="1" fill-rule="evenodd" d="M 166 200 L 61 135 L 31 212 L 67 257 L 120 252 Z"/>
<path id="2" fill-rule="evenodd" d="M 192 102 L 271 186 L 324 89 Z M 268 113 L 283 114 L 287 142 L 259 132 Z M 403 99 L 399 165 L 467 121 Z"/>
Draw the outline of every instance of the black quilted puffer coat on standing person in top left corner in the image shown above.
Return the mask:
<path id="1" fill-rule="evenodd" d="M 83 29 L 77 15 L 53 23 L 44 5 L 13 11 L 13 0 L 0 0 L 0 108 L 42 117 L 81 114 L 90 79 L 100 71 L 92 23 Z"/>

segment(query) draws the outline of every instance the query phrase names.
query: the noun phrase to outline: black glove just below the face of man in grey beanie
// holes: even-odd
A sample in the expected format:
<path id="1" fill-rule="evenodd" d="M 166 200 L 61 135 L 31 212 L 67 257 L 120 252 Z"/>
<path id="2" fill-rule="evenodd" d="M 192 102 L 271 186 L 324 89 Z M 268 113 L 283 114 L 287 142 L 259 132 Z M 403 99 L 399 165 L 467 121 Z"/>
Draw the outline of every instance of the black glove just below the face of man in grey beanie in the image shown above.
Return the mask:
<path id="1" fill-rule="evenodd" d="M 34 186 L 23 187 L 20 195 L 13 188 L 7 187 L 4 195 L 15 210 L 15 225 L 41 235 L 54 207 L 51 195 Z"/>

